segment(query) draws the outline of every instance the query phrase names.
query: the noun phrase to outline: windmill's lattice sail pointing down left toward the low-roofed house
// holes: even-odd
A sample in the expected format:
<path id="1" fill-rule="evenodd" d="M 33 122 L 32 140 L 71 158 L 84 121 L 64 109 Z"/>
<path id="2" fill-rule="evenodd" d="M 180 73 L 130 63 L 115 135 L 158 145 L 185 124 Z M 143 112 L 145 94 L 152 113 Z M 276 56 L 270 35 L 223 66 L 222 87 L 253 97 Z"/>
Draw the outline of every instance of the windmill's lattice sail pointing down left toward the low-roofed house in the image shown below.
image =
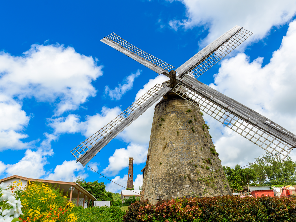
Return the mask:
<path id="1" fill-rule="evenodd" d="M 114 120 L 70 152 L 76 157 L 77 161 L 85 166 L 104 146 L 114 139 L 115 136 L 170 90 L 170 87 L 156 84 L 147 93 L 136 100 L 136 102 L 121 112 Z"/>

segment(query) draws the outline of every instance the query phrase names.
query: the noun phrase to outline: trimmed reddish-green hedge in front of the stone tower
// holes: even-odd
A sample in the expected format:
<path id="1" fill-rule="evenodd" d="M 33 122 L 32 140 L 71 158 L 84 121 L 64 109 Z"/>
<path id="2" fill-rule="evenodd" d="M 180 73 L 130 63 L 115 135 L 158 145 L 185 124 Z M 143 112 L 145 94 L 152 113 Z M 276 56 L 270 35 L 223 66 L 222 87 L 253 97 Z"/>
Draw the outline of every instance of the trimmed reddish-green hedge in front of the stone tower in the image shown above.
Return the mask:
<path id="1" fill-rule="evenodd" d="M 289 197 L 203 197 L 135 202 L 124 221 L 296 221 L 296 198 Z"/>

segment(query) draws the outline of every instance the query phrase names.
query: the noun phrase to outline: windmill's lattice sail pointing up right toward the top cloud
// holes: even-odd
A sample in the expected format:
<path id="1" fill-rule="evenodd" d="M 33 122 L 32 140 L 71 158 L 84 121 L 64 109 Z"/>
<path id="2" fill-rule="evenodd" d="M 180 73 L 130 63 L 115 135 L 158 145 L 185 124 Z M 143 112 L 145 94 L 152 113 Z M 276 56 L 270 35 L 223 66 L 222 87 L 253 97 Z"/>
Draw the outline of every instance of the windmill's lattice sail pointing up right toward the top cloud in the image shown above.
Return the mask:
<path id="1" fill-rule="evenodd" d="M 178 67 L 176 72 L 197 79 L 252 34 L 242 27 L 235 26 Z"/>

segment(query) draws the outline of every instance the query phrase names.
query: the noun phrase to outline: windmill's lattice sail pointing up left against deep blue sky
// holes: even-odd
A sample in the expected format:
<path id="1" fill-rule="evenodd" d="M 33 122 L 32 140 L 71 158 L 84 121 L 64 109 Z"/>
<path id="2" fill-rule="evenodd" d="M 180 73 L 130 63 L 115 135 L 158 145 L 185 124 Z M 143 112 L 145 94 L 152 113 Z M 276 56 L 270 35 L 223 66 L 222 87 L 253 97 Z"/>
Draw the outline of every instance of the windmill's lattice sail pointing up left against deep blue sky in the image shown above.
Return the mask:
<path id="1" fill-rule="evenodd" d="M 144 52 L 136 46 L 133 46 L 115 33 L 111 33 L 109 36 L 104 37 L 100 41 L 114 49 L 117 49 L 119 52 L 126 54 L 128 57 L 140 62 L 142 65 L 148 67 L 158 74 L 166 73 L 168 76 L 167 71 L 174 68 L 174 66 L 168 64 L 167 62 L 164 62 L 163 60 L 160 60 L 151 54 Z"/>

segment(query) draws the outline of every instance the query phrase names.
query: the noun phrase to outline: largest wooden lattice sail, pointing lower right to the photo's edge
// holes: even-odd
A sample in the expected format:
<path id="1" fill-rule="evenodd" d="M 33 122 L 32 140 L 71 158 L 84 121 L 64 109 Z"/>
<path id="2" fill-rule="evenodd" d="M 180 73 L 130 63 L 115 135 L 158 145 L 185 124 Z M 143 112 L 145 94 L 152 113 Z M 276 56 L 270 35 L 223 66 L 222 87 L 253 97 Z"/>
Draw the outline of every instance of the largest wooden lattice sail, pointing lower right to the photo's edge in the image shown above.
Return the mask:
<path id="1" fill-rule="evenodd" d="M 192 77 L 179 80 L 173 92 L 272 155 L 284 160 L 296 147 L 293 133 L 258 112 Z"/>

